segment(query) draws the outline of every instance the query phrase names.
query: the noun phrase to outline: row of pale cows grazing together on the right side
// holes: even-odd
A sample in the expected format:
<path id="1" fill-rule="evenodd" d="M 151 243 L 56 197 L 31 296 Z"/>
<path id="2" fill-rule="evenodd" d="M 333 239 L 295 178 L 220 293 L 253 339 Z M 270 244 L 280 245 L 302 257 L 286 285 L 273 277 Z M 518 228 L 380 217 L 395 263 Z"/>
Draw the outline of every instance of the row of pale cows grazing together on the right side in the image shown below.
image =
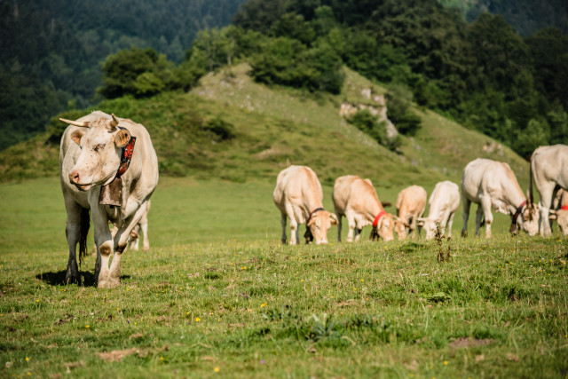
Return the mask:
<path id="1" fill-rule="evenodd" d="M 516 234 L 520 227 L 530 236 L 539 231 L 547 236 L 551 233 L 549 220 L 556 219 L 561 232 L 566 234 L 568 193 L 563 187 L 568 185 L 568 174 L 562 168 L 568 166 L 564 164 L 568 164 L 568 146 L 541 146 L 535 150 L 527 198 L 509 164 L 478 158 L 463 169 L 461 186 L 448 180 L 435 186 L 428 200 L 428 217 L 422 217 L 427 198 L 422 186 L 409 186 L 398 193 L 395 216 L 384 210 L 371 180 L 354 175 L 335 180 L 332 193 L 335 214 L 329 213 L 323 209 L 323 193 L 315 172 L 305 166 L 290 166 L 280 171 L 273 193 L 274 203 L 281 213 L 281 241 L 287 242 L 288 218 L 291 245 L 298 242 L 298 225 L 304 223 L 306 243 L 314 240 L 316 244 L 327 243 L 327 230 L 332 225 L 338 225 L 337 241 L 341 241 L 343 217 L 349 226 L 347 242 L 359 241 L 361 229 L 367 225 L 373 226 L 372 239 L 379 237 L 384 241 L 392 241 L 395 232 L 398 240 L 406 239 L 406 235 L 414 237 L 416 229 L 420 232 L 420 227 L 425 230 L 427 240 L 434 238 L 438 229 L 440 233 L 451 236 L 460 198 L 463 206 L 462 236 L 468 233 L 472 202 L 477 204 L 476 235 L 485 224 L 485 237 L 491 237 L 492 209 L 511 217 L 510 233 Z M 533 203 L 533 180 L 540 192 L 539 204 Z"/>

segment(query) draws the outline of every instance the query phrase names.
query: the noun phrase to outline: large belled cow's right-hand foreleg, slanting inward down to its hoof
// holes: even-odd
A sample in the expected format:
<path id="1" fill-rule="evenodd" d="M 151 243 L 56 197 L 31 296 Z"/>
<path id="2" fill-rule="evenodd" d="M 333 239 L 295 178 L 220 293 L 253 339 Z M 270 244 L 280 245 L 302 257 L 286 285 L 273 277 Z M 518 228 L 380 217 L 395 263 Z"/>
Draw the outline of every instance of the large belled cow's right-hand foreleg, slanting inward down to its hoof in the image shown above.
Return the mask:
<path id="1" fill-rule="evenodd" d="M 113 262 L 110 265 L 108 279 L 108 283 L 111 288 L 118 287 L 121 284 L 122 253 L 124 252 L 124 249 L 126 249 L 126 245 L 128 244 L 130 232 L 132 232 L 132 229 L 134 229 L 134 227 L 138 225 L 140 218 L 144 216 L 147 204 L 148 201 L 144 201 L 138 206 L 138 203 L 136 201 L 129 201 L 129 206 L 124 210 L 124 213 L 127 215 L 130 214 L 132 216 L 127 217 L 126 220 L 124 220 L 122 227 L 120 227 L 118 231 L 113 234 L 114 257 Z"/>

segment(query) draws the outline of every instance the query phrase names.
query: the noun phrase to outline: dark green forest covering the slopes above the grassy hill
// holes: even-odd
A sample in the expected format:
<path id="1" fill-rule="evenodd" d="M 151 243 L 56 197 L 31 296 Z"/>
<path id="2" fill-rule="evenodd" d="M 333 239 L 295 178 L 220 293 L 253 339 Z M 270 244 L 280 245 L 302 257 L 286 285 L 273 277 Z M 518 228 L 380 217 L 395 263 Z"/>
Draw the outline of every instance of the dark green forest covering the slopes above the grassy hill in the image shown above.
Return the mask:
<path id="1" fill-rule="evenodd" d="M 259 83 L 314 93 L 339 93 L 350 67 L 389 88 L 389 116 L 403 133 L 419 127 L 405 106 L 414 101 L 525 158 L 568 142 L 567 4 L 241 3 L 0 3 L 0 149 L 60 111 L 187 91 L 242 60 Z"/>

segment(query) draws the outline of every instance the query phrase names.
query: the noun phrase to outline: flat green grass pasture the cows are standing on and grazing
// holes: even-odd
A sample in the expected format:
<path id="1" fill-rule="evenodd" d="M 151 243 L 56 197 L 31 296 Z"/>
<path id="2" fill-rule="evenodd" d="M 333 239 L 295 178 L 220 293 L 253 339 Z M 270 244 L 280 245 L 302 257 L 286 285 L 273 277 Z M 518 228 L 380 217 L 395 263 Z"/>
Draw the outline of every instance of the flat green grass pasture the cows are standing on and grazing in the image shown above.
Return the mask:
<path id="1" fill-rule="evenodd" d="M 476 239 L 472 212 L 464 240 L 460 209 L 450 241 L 370 242 L 367 227 L 337 243 L 332 227 L 327 246 L 281 246 L 273 186 L 161 178 L 150 251 L 127 251 L 122 286 L 100 290 L 91 256 L 83 286 L 63 283 L 59 179 L 1 185 L 0 376 L 567 375 L 557 228 L 512 238 L 499 215 Z"/>

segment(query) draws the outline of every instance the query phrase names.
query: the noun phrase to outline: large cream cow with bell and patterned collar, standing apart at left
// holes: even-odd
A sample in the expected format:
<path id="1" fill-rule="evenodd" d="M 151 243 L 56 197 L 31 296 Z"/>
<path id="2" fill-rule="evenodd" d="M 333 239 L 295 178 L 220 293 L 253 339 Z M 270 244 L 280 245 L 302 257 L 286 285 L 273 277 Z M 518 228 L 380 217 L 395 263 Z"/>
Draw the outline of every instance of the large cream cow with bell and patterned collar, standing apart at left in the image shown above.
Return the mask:
<path id="1" fill-rule="evenodd" d="M 78 282 L 86 252 L 89 210 L 95 231 L 99 288 L 120 284 L 120 262 L 130 232 L 146 213 L 158 184 L 158 158 L 146 128 L 97 111 L 70 125 L 61 138 L 59 173 L 67 209 L 67 282 Z M 110 204 L 110 205 L 109 205 Z M 108 223 L 115 225 L 113 232 Z M 111 254 L 114 254 L 109 267 Z"/>

